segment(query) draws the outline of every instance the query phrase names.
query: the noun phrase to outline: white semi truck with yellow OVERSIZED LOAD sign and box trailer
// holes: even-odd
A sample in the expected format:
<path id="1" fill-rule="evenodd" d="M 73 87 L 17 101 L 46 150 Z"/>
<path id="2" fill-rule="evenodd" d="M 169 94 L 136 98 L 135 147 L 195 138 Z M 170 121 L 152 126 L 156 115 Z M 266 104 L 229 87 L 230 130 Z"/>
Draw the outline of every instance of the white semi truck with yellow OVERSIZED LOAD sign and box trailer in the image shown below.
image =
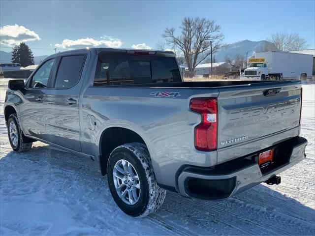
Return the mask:
<path id="1" fill-rule="evenodd" d="M 256 53 L 248 63 L 242 80 L 306 79 L 312 77 L 313 72 L 313 56 L 300 53 Z"/>

